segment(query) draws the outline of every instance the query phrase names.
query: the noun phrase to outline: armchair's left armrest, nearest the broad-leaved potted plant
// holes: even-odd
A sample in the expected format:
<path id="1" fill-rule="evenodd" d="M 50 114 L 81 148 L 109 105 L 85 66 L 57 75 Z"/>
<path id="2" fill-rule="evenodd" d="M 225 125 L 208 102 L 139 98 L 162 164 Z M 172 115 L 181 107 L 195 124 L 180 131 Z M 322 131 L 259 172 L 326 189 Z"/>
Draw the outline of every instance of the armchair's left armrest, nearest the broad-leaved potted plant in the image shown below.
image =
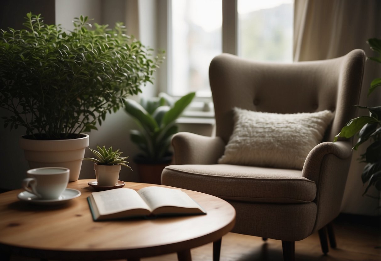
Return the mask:
<path id="1" fill-rule="evenodd" d="M 216 164 L 225 143 L 219 137 L 179 132 L 172 138 L 174 164 Z"/>

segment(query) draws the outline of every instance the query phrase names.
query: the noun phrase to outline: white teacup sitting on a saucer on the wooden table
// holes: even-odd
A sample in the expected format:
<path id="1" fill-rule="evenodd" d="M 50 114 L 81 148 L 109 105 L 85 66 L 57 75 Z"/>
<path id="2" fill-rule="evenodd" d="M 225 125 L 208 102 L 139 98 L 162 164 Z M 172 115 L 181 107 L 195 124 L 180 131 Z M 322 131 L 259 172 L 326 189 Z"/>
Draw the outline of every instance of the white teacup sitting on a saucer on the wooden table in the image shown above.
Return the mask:
<path id="1" fill-rule="evenodd" d="M 22 187 L 40 199 L 58 199 L 69 183 L 70 170 L 62 167 L 30 169 Z"/>

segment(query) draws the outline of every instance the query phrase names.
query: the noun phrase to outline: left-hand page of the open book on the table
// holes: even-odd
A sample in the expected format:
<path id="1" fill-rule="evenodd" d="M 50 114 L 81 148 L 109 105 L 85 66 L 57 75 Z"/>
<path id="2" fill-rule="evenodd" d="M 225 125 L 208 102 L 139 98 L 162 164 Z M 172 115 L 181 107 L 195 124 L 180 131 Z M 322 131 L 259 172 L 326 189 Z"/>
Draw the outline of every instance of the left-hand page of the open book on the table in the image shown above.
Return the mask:
<path id="1" fill-rule="evenodd" d="M 110 189 L 93 192 L 92 195 L 100 215 L 108 215 L 135 208 L 144 208 L 151 211 L 146 202 L 133 189 Z"/>

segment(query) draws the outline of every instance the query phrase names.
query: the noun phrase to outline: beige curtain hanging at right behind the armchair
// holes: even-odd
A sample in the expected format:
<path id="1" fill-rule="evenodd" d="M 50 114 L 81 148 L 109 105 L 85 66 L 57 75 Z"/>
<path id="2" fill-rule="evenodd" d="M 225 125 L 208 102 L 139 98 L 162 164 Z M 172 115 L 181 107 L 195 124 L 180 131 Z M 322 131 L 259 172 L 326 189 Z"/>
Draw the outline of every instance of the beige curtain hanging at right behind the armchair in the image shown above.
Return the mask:
<path id="1" fill-rule="evenodd" d="M 322 60 L 343 56 L 360 48 L 367 56 L 375 56 L 366 43 L 368 38 L 381 38 L 380 0 L 295 0 L 294 60 Z M 365 66 L 360 104 L 381 105 L 381 89 L 367 97 L 374 78 L 381 77 L 381 66 L 368 60 Z M 359 115 L 366 111 L 359 110 Z M 379 215 L 378 200 L 363 197 L 361 173 L 364 167 L 357 158 L 364 148 L 354 151 L 344 192 L 342 212 Z M 379 195 L 376 189 L 370 193 Z"/>

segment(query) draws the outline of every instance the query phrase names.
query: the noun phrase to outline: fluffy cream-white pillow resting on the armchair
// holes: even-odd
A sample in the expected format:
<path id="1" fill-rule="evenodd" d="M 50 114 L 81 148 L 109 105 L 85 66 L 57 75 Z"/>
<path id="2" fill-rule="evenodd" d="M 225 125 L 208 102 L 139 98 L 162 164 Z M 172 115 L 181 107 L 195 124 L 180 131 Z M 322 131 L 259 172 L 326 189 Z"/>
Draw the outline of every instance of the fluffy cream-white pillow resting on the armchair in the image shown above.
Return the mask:
<path id="1" fill-rule="evenodd" d="M 218 163 L 303 169 L 332 118 L 329 110 L 278 114 L 234 108 L 234 130 Z"/>

